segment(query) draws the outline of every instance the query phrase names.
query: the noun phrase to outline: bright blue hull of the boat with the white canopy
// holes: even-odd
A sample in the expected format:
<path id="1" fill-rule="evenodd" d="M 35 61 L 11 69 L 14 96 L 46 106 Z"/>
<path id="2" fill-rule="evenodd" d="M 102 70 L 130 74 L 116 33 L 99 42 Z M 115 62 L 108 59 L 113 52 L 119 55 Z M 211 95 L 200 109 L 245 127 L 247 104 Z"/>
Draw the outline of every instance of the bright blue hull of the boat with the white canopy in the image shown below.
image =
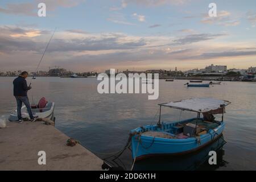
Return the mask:
<path id="1" fill-rule="evenodd" d="M 188 119 L 188 122 L 191 119 Z M 163 124 L 162 129 L 158 129 L 156 125 L 148 125 L 142 128 L 132 130 L 131 133 L 141 133 L 143 131 L 170 131 L 175 130 L 175 123 Z M 182 122 L 179 122 L 182 123 Z M 200 136 L 200 142 L 197 138 L 191 137 L 187 139 L 172 139 L 172 138 L 154 138 L 143 135 L 134 135 L 131 138 L 133 159 L 136 160 L 147 158 L 154 155 L 180 155 L 187 154 L 199 150 L 200 148 L 210 144 L 214 139 L 222 135 L 225 123 L 221 123 L 218 127 L 210 129 L 207 134 Z M 140 138 L 140 142 L 139 142 Z M 139 142 L 139 143 L 138 143 Z"/>

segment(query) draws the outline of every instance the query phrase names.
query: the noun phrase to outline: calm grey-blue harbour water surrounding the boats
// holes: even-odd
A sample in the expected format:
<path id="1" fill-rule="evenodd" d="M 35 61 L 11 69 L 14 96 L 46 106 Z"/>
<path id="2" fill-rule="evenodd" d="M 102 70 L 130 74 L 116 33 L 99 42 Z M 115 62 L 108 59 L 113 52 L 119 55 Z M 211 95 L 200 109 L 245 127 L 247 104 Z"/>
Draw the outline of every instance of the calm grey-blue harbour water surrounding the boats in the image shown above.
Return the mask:
<path id="1" fill-rule="evenodd" d="M 0 115 L 9 113 L 16 106 L 13 97 L 13 77 L 0 77 Z M 31 78 L 28 78 L 28 82 Z M 249 170 L 256 169 L 256 84 L 247 82 L 222 82 L 210 88 L 187 88 L 187 80 L 159 81 L 159 99 L 148 100 L 147 94 L 98 94 L 96 78 L 37 77 L 28 93 L 32 102 L 44 96 L 54 101 L 56 128 L 104 158 L 109 153 L 121 150 L 129 137 L 129 131 L 142 125 L 156 123 L 158 104 L 191 97 L 214 97 L 232 102 L 226 108 L 224 139 L 226 144 L 222 162 L 217 168 L 200 164 L 199 169 Z M 180 111 L 162 110 L 163 121 L 178 120 Z M 155 119 L 154 119 L 155 117 Z M 181 119 L 195 117 L 183 112 Z M 194 156 L 193 156 L 194 157 Z M 129 150 L 121 156 L 119 165 L 130 169 L 132 158 Z M 191 160 L 189 158 L 189 160 Z M 179 163 L 172 159 L 154 162 L 147 160 L 135 165 L 135 169 L 151 169 Z M 148 165 L 150 162 L 150 165 Z M 181 162 L 181 161 L 180 161 Z M 163 168 L 162 168 L 163 169 Z"/>

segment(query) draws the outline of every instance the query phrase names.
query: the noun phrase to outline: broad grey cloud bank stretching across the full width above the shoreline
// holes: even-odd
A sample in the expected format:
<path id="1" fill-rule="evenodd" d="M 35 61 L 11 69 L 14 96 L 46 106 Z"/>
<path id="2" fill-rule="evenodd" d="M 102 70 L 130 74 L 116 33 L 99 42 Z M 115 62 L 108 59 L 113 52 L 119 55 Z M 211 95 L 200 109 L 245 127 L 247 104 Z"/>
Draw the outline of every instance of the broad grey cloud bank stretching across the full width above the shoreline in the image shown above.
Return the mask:
<path id="1" fill-rule="evenodd" d="M 51 31 L 16 26 L 0 26 L 0 31 L 1 70 L 31 68 L 33 71 Z M 26 32 L 33 31 L 40 31 L 40 35 L 10 36 L 26 35 Z M 185 29 L 181 31 L 190 32 Z M 134 65 L 138 69 L 167 68 L 172 63 L 181 67 L 184 64 L 185 67 L 193 67 L 195 60 L 200 60 L 204 66 L 208 59 L 216 58 L 217 61 L 227 57 L 234 60 L 238 56 L 244 56 L 240 59 L 242 61 L 255 57 L 254 43 L 226 44 L 215 40 L 225 35 L 201 33 L 173 38 L 164 35 L 132 36 L 119 32 L 90 33 L 76 29 L 57 31 L 40 69 L 47 69 L 52 65 L 61 65 L 72 71 L 104 70 L 112 65 L 119 68 L 131 68 Z M 211 40 L 210 44 L 205 42 L 207 40 Z M 191 46 L 192 43 L 197 44 Z M 239 46 L 235 47 L 236 45 Z M 189 61 L 193 64 L 187 65 Z"/>

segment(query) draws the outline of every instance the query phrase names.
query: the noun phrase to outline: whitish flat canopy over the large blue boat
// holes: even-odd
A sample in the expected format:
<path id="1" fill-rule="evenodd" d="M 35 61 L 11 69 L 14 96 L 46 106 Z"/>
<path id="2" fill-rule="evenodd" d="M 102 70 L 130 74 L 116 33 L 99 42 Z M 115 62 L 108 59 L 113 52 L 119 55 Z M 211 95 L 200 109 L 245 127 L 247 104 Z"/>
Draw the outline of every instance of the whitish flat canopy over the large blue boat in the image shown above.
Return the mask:
<path id="1" fill-rule="evenodd" d="M 225 106 L 231 104 L 229 101 L 217 100 L 215 98 L 189 98 L 176 102 L 159 104 L 160 106 L 172 107 L 180 110 L 194 111 L 197 113 L 225 113 Z"/>

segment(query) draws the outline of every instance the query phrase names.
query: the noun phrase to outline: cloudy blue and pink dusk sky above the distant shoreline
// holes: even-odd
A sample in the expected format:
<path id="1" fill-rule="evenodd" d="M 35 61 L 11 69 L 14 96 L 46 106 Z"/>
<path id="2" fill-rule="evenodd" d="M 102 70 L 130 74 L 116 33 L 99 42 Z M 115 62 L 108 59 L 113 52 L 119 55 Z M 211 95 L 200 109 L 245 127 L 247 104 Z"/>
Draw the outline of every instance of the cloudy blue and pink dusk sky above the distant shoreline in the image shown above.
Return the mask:
<path id="1" fill-rule="evenodd" d="M 255 0 L 1 0 L 0 72 L 35 71 L 55 28 L 40 70 L 247 69 L 255 26 Z"/>

